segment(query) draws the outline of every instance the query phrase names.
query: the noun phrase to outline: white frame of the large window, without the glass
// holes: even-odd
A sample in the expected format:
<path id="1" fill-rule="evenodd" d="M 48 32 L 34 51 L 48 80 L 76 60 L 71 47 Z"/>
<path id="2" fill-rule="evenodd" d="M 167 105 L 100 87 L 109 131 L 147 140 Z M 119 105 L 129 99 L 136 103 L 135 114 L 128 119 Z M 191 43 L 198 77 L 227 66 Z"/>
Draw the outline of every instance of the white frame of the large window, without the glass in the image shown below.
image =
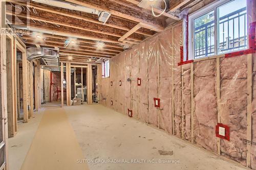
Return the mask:
<path id="1" fill-rule="evenodd" d="M 188 60 L 195 59 L 194 20 L 204 14 L 207 14 L 210 11 L 214 11 L 214 23 L 215 23 L 215 25 L 214 25 L 214 38 L 215 38 L 214 55 L 204 56 L 204 57 L 200 57 L 200 58 L 210 58 L 210 57 L 214 57 L 214 56 L 218 55 L 218 31 L 219 31 L 218 19 L 219 18 L 218 18 L 218 14 L 217 14 L 217 8 L 228 3 L 228 2 L 231 2 L 231 1 L 233 1 L 233 0 L 224 0 L 224 1 L 217 0 L 217 1 L 214 1 L 214 2 L 206 5 L 202 9 L 195 11 L 188 15 L 188 39 L 191 39 L 191 41 L 188 42 L 188 54 L 192 54 L 192 55 L 189 55 Z M 248 30 L 248 28 L 247 28 L 247 30 Z M 248 46 L 249 45 L 248 45 L 248 33 L 247 33 L 247 48 L 246 49 L 248 49 Z M 240 50 L 238 50 L 238 51 L 240 51 Z M 235 51 L 233 51 L 233 52 L 235 52 Z M 230 52 L 227 52 L 227 53 L 230 53 Z M 223 54 L 225 54 L 225 53 L 223 53 Z M 221 55 L 223 55 L 223 54 L 221 54 Z M 197 58 L 197 59 L 200 59 L 200 58 Z"/>

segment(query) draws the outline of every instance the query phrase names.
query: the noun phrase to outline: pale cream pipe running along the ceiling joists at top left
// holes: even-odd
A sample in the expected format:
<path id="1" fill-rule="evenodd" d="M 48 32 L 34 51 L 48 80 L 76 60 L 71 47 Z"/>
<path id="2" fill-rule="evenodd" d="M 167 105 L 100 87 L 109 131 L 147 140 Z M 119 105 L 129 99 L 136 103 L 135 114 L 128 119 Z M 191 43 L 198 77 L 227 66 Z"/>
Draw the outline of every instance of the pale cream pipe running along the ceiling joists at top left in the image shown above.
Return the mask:
<path id="1" fill-rule="evenodd" d="M 67 3 L 65 1 L 58 1 L 58 0 L 32 0 L 32 1 L 37 2 L 37 3 L 41 3 L 41 4 L 54 6 L 54 7 L 59 7 L 59 8 L 66 8 L 66 9 L 70 9 L 70 10 L 76 10 L 76 11 L 81 11 L 81 12 L 86 12 L 86 13 L 96 14 L 96 15 L 99 14 L 99 11 L 96 10 L 96 9 L 87 8 L 87 7 L 83 7 L 83 6 L 80 6 L 80 5 Z"/>

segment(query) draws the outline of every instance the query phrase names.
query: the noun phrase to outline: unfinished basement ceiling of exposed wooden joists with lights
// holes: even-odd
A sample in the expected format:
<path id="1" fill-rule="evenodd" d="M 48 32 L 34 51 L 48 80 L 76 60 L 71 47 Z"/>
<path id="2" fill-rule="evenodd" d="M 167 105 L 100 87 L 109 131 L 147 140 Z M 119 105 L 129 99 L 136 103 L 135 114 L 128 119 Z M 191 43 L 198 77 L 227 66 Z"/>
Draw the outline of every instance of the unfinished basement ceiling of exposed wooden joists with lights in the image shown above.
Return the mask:
<path id="1" fill-rule="evenodd" d="M 60 62 L 101 63 L 162 31 L 167 22 L 180 20 L 166 12 L 171 11 L 168 2 L 160 17 L 154 17 L 151 8 L 139 7 L 140 1 L 135 0 L 8 0 L 7 4 L 6 18 L 12 27 L 27 27 L 19 34 L 27 47 L 59 48 Z M 163 4 L 155 6 L 159 14 Z M 98 20 L 100 12 L 109 17 L 105 23 Z M 13 21 L 13 17 L 18 19 Z"/>

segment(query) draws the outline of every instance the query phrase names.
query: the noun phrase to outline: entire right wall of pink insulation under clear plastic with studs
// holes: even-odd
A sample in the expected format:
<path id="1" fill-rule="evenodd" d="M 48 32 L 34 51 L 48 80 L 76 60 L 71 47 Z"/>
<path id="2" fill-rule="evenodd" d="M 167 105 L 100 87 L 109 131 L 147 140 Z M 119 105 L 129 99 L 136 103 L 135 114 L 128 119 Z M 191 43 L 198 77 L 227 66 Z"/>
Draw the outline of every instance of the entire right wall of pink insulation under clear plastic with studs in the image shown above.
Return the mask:
<path id="1" fill-rule="evenodd" d="M 255 54 L 212 56 L 178 66 L 181 31 L 179 22 L 110 59 L 100 103 L 126 115 L 132 110 L 142 123 L 256 169 Z M 160 108 L 154 98 L 160 99 Z M 230 141 L 216 137 L 217 123 L 230 128 Z"/>

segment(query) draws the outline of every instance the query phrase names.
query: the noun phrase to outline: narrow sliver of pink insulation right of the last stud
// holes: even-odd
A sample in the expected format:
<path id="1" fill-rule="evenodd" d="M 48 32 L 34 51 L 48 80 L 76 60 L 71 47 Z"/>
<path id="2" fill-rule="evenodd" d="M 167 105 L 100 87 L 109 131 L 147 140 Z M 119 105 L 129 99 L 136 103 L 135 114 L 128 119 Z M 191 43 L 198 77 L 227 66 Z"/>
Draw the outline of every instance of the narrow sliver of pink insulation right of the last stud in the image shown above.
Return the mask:
<path id="1" fill-rule="evenodd" d="M 252 114 L 251 114 L 251 119 L 252 119 L 252 138 L 251 141 L 256 143 L 256 55 L 253 54 L 253 74 L 252 74 Z M 252 144 L 251 145 L 251 168 L 256 169 L 256 145 Z"/>

